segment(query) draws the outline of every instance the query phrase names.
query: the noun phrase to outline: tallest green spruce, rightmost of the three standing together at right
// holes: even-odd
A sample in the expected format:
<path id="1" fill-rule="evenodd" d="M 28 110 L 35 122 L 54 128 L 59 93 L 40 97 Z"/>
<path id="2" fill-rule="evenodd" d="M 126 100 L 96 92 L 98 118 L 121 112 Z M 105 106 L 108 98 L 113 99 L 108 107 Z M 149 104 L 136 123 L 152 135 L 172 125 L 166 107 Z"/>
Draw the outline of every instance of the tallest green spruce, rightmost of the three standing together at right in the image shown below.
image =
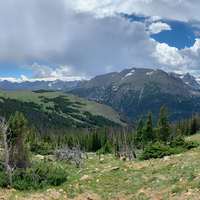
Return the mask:
<path id="1" fill-rule="evenodd" d="M 167 144 L 167 139 L 170 136 L 170 125 L 167 117 L 167 109 L 165 104 L 160 109 L 158 124 L 156 125 L 157 138 Z"/>

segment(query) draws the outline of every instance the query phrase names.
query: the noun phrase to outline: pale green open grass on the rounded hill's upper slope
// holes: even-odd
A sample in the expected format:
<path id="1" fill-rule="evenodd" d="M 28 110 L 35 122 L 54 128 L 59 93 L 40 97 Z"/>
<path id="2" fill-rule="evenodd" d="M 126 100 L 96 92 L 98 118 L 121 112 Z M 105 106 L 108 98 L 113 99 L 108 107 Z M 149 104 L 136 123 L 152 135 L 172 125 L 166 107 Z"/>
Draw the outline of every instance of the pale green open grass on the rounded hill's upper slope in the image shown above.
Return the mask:
<path id="1" fill-rule="evenodd" d="M 125 123 L 120 121 L 119 113 L 115 109 L 113 109 L 109 106 L 106 106 L 104 104 L 98 103 L 96 101 L 81 98 L 80 96 L 77 96 L 77 95 L 66 94 L 66 93 L 62 93 L 62 92 L 35 93 L 35 92 L 28 91 L 28 90 L 18 90 L 18 91 L 0 90 L 0 97 L 17 99 L 17 100 L 20 100 L 23 102 L 34 102 L 37 104 L 41 104 L 41 105 L 43 105 L 43 110 L 47 111 L 47 112 L 51 112 L 51 111 L 47 110 L 46 107 L 48 106 L 48 107 L 53 108 L 54 103 L 52 101 L 45 103 L 42 100 L 44 100 L 44 98 L 59 97 L 60 95 L 62 95 L 63 98 L 66 98 L 70 102 L 72 102 L 73 105 L 75 105 L 76 107 L 74 107 L 73 105 L 71 105 L 69 107 L 79 110 L 80 114 L 83 111 L 88 111 L 88 112 L 91 112 L 92 115 L 100 115 L 105 118 L 108 118 L 111 121 L 119 123 L 121 125 L 126 125 Z M 42 96 L 42 98 L 41 98 L 41 96 Z M 2 99 L 0 99 L 0 101 L 2 101 Z M 78 102 L 78 104 L 77 104 L 77 102 Z M 65 117 L 70 117 L 70 116 L 66 116 L 62 112 L 60 113 L 60 115 L 65 116 Z M 73 118 L 73 117 L 70 117 L 70 118 Z M 80 120 L 78 120 L 78 119 L 74 119 L 74 120 L 80 122 Z"/>

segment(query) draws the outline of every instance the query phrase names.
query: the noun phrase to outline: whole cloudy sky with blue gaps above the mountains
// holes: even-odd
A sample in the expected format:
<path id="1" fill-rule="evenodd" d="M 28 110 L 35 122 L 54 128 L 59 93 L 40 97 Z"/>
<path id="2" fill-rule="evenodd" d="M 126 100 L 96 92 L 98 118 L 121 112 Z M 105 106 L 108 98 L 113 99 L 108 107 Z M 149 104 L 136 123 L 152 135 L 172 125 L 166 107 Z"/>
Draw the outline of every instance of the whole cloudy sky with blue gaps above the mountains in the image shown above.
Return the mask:
<path id="1" fill-rule="evenodd" d="M 131 68 L 200 76 L 199 0 L 1 0 L 0 81 Z"/>

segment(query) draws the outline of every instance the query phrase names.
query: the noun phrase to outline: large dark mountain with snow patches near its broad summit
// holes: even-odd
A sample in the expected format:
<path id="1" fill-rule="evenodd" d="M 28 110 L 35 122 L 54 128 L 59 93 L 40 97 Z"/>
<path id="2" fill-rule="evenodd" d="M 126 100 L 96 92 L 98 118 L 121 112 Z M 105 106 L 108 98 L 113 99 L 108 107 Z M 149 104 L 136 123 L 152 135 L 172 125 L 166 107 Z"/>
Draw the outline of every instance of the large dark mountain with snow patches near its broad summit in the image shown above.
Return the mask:
<path id="1" fill-rule="evenodd" d="M 181 78 L 162 70 L 133 68 L 96 76 L 70 93 L 112 106 L 134 120 L 146 118 L 149 109 L 157 120 L 166 104 L 173 121 L 200 111 L 199 92 L 191 89 L 192 84 L 196 82 L 188 74 Z"/>

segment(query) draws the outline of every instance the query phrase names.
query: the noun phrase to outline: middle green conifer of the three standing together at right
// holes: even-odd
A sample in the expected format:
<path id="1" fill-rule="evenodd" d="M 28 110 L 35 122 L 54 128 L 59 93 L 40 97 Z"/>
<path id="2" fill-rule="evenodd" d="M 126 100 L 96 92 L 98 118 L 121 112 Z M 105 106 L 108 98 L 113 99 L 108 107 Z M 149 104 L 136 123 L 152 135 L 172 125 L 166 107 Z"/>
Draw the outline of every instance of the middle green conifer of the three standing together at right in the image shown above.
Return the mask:
<path id="1" fill-rule="evenodd" d="M 144 143 L 148 143 L 149 141 L 156 140 L 155 129 L 153 126 L 152 114 L 150 110 L 147 114 L 145 126 L 142 129 L 142 140 Z"/>

